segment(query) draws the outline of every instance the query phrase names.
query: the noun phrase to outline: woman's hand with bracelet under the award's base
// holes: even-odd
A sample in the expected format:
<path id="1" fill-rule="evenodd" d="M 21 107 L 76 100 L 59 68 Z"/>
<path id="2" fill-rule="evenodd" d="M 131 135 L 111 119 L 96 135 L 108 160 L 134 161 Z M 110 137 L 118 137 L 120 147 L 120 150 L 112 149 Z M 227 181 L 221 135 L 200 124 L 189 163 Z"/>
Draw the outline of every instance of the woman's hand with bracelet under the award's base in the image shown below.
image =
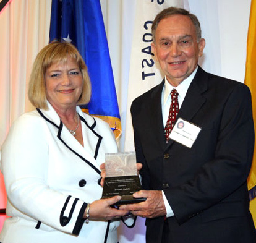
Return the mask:
<path id="1" fill-rule="evenodd" d="M 90 203 L 89 220 L 112 220 L 113 218 L 120 218 L 121 216 L 127 215 L 129 213 L 127 210 L 119 210 L 110 207 L 110 205 L 113 205 L 120 199 L 121 196 L 115 196 L 107 199 L 96 200 L 93 203 Z M 85 213 L 83 218 L 86 218 Z"/>

